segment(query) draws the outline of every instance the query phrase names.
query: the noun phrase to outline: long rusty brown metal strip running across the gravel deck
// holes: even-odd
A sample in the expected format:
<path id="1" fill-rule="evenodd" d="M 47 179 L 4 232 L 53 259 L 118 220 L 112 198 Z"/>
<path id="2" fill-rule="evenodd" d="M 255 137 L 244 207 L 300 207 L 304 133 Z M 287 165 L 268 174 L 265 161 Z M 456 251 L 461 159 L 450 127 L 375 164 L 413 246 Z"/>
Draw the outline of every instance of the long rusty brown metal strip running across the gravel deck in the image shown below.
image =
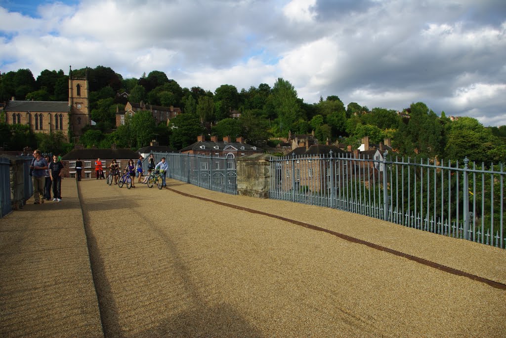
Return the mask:
<path id="1" fill-rule="evenodd" d="M 301 221 L 296 221 L 296 220 L 293 220 L 293 219 L 289 219 L 289 218 L 278 216 L 278 215 L 269 214 L 269 213 L 266 213 L 266 212 L 263 212 L 263 211 L 259 211 L 259 210 L 244 208 L 244 207 L 236 206 L 236 205 L 233 205 L 233 204 L 228 204 L 228 203 L 223 203 L 223 202 L 219 202 L 219 201 L 215 201 L 215 200 L 211 200 L 211 199 L 206 199 L 204 197 L 190 195 L 190 194 L 187 194 L 186 192 L 182 192 L 182 191 L 179 191 L 179 190 L 176 190 L 176 189 L 173 189 L 173 188 L 168 188 L 168 189 L 171 190 L 171 191 L 173 191 L 173 192 L 176 192 L 176 194 L 183 195 L 183 196 L 186 196 L 186 197 L 195 198 L 195 199 L 199 199 L 199 200 L 202 200 L 202 201 L 215 203 L 215 204 L 222 205 L 222 206 L 229 207 L 229 208 L 233 208 L 233 209 L 247 211 L 247 212 L 250 212 L 250 213 L 253 213 L 253 214 L 260 214 L 260 215 L 263 215 L 263 216 L 276 218 L 276 219 L 279 219 L 279 220 L 282 220 L 282 221 L 285 221 L 285 222 L 289 222 L 289 223 L 292 223 L 292 224 L 300 225 L 300 226 L 303 226 L 303 227 L 306 227 L 306 228 L 309 228 L 309 229 L 312 229 L 312 230 L 323 231 L 323 232 L 329 233 L 331 235 L 337 236 L 339 238 L 342 238 L 344 240 L 347 240 L 348 242 L 362 244 L 362 245 L 365 245 L 365 246 L 367 246 L 369 248 L 372 248 L 372 249 L 376 249 L 376 250 L 380 250 L 380 251 L 385 251 L 385 252 L 388 252 L 390 254 L 393 254 L 393 255 L 396 255 L 396 256 L 399 256 L 399 257 L 404 257 L 404 258 L 407 258 L 407 259 L 409 259 L 411 261 L 414 261 L 414 262 L 417 262 L 417 263 L 420 263 L 420 264 L 424 264 L 424 265 L 430 266 L 430 267 L 438 269 L 438 270 L 442 270 L 442 271 L 445 271 L 445 272 L 448 272 L 448 273 L 451 273 L 451 274 L 454 274 L 454 275 L 457 275 L 457 276 L 468 277 L 470 279 L 473 279 L 473 280 L 476 280 L 476 281 L 488 284 L 488 285 L 490 285 L 492 287 L 495 287 L 495 288 L 498 288 L 498 289 L 501 289 L 501 290 L 506 290 L 506 284 L 503 284 L 501 282 L 498 282 L 498 281 L 495 281 L 495 280 L 491 280 L 491 279 L 488 279 L 488 278 L 485 278 L 485 277 L 480 277 L 480 276 L 474 275 L 472 273 L 460 271 L 460 270 L 457 270 L 457 269 L 454 269 L 454 268 L 450 268 L 449 266 L 445 266 L 445 265 L 442 265 L 442 264 L 439 264 L 439 263 L 436 263 L 436 262 L 432 262 L 432 261 L 429 261 L 429 260 L 426 260 L 426 259 L 423 259 L 423 258 L 420 258 L 420 257 L 409 255 L 409 254 L 406 254 L 406 253 L 403 253 L 403 252 L 400 252 L 400 251 L 397 251 L 397 250 L 389 249 L 389 248 L 386 248 L 386 247 L 383 247 L 383 246 L 380 246 L 380 245 L 377 245 L 377 244 L 374 244 L 374 243 L 367 242 L 366 240 L 363 240 L 363 239 L 359 239 L 359 238 L 355 238 L 355 237 L 352 237 L 352 236 L 348 236 L 348 235 L 345 235 L 343 233 L 335 232 L 335 231 L 332 231 L 332 230 L 329 230 L 329 229 L 325 229 L 325 228 L 322 228 L 322 227 L 319 227 L 319 226 L 316 226 L 316 225 L 313 225 L 313 224 L 304 223 L 304 222 L 301 222 Z"/>

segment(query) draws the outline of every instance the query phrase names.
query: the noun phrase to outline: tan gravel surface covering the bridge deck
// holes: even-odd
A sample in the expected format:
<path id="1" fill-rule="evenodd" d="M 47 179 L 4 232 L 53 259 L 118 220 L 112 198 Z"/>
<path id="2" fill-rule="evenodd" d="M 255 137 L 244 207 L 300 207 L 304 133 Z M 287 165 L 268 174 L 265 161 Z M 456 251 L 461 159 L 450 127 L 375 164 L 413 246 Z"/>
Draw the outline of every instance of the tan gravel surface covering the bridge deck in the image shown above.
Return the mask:
<path id="1" fill-rule="evenodd" d="M 168 182 L 194 197 L 85 180 L 79 182 L 82 218 L 78 206 L 71 208 L 74 214 L 67 210 L 69 197 L 61 205 L 27 205 L 0 219 L 0 262 L 9 270 L 0 273 L 0 335 L 30 336 L 40 329 L 48 333 L 39 336 L 50 336 L 48 326 L 62 325 L 60 336 L 93 336 L 100 329 L 98 308 L 108 337 L 505 335 L 503 289 L 196 197 L 309 223 L 503 284 L 506 250 L 338 210 Z M 64 180 L 64 197 L 71 183 Z M 14 223 L 49 208 L 54 212 L 39 213 L 49 220 L 46 226 L 55 227 L 52 215 L 61 215 L 58 224 L 65 230 L 80 222 L 78 240 L 60 238 L 65 230 L 28 237 L 40 226 L 16 237 Z M 99 306 L 90 290 L 85 231 Z M 43 237 L 60 248 L 50 259 L 61 266 L 40 269 L 33 247 Z M 39 291 L 31 279 L 44 277 Z M 23 306 L 17 298 L 31 302 Z M 62 320 L 46 320 L 48 313 L 61 315 L 67 302 L 62 318 L 74 323 L 75 334 Z M 79 334 L 82 327 L 90 333 Z"/>

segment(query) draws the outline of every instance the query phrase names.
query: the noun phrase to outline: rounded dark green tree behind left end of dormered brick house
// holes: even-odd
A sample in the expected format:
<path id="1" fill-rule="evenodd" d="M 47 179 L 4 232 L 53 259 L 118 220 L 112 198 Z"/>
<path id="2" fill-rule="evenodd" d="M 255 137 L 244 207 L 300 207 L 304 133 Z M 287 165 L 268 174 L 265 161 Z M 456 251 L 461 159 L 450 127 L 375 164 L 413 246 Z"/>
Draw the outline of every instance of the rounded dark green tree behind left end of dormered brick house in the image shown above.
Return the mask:
<path id="1" fill-rule="evenodd" d="M 174 150 L 183 149 L 197 140 L 197 136 L 204 132 L 198 118 L 191 114 L 179 114 L 169 124 L 172 129 L 171 148 Z"/>

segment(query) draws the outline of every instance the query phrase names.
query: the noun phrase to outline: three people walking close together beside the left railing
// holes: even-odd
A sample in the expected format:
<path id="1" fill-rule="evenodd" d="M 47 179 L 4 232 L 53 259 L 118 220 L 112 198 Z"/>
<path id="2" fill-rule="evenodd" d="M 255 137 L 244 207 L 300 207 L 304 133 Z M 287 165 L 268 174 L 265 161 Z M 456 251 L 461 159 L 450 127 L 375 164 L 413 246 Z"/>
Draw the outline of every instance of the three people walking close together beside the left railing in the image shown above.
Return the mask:
<path id="1" fill-rule="evenodd" d="M 33 181 L 33 204 L 43 204 L 44 200 L 51 200 L 51 186 L 53 187 L 53 201 L 61 202 L 62 169 L 64 165 L 61 156 L 43 157 L 40 150 L 33 151 L 30 163 L 30 174 Z"/>

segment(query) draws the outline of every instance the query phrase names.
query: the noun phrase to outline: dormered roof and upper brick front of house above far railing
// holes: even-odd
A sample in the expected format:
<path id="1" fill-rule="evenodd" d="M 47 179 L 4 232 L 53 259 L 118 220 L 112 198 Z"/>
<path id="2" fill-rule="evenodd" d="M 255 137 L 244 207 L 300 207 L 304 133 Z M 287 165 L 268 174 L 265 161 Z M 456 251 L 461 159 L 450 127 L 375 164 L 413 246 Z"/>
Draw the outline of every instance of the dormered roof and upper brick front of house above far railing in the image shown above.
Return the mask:
<path id="1" fill-rule="evenodd" d="M 236 158 L 252 154 L 263 154 L 264 150 L 245 143 L 244 137 L 237 137 L 235 142 L 232 142 L 230 136 L 223 137 L 223 141 L 219 141 L 218 136 L 211 136 L 210 141 L 206 141 L 204 135 L 199 135 L 195 143 L 181 149 L 179 152 Z"/>

